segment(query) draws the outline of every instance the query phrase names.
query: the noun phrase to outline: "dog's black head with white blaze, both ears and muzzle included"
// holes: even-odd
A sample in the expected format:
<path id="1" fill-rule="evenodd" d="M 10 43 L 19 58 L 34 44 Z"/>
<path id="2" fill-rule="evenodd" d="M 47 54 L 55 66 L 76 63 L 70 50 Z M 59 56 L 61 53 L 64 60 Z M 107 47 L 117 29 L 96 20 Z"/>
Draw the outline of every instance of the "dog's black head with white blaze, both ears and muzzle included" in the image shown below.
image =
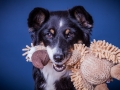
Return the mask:
<path id="1" fill-rule="evenodd" d="M 28 17 L 34 45 L 44 43 L 56 71 L 64 70 L 73 44 L 81 42 L 89 46 L 92 26 L 92 17 L 82 6 L 53 12 L 37 7 Z"/>

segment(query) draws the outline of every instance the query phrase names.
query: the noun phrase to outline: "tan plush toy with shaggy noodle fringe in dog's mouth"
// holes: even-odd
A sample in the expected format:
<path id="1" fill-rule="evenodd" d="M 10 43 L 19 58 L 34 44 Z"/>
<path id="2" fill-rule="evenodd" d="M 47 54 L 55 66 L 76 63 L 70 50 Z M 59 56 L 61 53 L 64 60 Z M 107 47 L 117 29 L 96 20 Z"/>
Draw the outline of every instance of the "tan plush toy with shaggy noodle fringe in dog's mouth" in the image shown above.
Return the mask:
<path id="1" fill-rule="evenodd" d="M 44 45 L 31 46 L 23 49 L 27 51 L 23 56 L 27 55 L 27 61 L 43 68 L 49 62 L 47 52 L 42 54 L 46 48 Z M 94 40 L 90 47 L 74 44 L 66 65 L 72 72 L 70 77 L 76 90 L 108 90 L 106 82 L 112 78 L 120 80 L 120 49 L 101 40 Z"/>

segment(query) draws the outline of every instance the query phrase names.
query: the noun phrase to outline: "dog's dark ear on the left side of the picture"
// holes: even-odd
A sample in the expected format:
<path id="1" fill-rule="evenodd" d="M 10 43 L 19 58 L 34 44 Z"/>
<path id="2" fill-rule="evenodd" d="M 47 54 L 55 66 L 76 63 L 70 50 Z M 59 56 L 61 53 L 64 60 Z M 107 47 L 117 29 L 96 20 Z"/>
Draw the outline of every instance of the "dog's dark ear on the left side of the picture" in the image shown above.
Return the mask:
<path id="1" fill-rule="evenodd" d="M 49 17 L 49 11 L 44 9 L 44 8 L 40 8 L 40 7 L 36 7 L 34 8 L 28 17 L 28 27 L 29 27 L 29 31 L 33 32 L 38 30 L 42 24 L 47 21 Z"/>

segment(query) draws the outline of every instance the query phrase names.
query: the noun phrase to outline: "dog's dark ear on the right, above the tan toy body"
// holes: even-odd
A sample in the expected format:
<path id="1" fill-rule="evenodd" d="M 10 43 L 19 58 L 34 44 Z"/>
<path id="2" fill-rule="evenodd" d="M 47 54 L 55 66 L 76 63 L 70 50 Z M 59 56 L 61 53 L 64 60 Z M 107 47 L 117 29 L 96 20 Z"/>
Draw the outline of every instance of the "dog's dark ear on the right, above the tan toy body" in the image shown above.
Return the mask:
<path id="1" fill-rule="evenodd" d="M 69 10 L 69 13 L 81 24 L 82 27 L 84 28 L 93 27 L 92 16 L 82 6 L 73 7 L 72 9 Z"/>

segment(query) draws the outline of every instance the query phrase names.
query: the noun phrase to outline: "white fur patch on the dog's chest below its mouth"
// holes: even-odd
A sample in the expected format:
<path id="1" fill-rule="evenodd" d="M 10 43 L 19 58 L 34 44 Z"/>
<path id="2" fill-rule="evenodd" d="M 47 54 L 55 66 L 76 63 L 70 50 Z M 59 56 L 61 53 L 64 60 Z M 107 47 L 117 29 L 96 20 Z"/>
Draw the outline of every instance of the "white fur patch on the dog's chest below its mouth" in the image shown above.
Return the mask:
<path id="1" fill-rule="evenodd" d="M 61 77 L 69 75 L 69 71 L 67 70 L 64 70 L 62 72 L 55 71 L 52 67 L 52 63 L 48 63 L 41 71 L 46 80 L 45 90 L 55 90 L 55 81 L 59 80 Z"/>

